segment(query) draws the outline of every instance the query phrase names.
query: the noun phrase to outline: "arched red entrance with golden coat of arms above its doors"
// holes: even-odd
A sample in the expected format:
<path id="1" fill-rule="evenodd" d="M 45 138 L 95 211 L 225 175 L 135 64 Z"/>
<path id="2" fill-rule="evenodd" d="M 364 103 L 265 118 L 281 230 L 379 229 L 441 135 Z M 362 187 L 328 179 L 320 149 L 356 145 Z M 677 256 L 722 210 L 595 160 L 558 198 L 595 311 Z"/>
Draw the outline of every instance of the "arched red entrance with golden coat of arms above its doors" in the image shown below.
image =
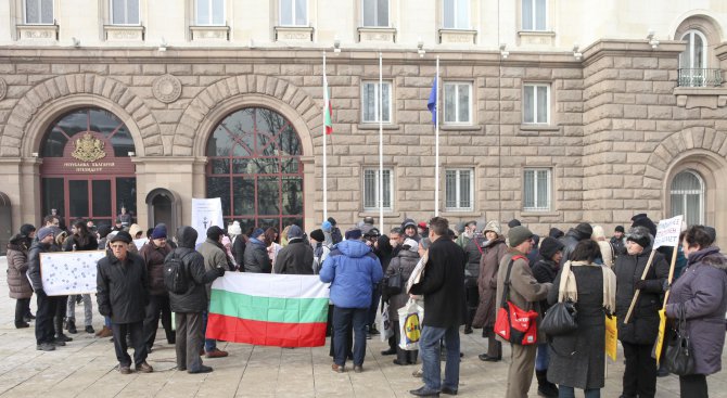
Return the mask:
<path id="1" fill-rule="evenodd" d="M 113 224 L 125 208 L 136 222 L 135 151 L 128 128 L 109 111 L 86 107 L 58 118 L 40 146 L 43 216 L 55 209 L 65 224 Z"/>

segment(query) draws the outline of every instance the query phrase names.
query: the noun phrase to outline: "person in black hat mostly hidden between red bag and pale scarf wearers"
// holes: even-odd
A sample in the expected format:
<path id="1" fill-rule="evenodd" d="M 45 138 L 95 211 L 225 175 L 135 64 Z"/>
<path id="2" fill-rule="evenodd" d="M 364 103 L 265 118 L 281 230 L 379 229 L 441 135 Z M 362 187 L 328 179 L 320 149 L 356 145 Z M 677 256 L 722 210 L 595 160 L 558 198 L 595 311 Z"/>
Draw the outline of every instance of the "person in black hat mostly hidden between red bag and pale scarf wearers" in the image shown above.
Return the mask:
<path id="1" fill-rule="evenodd" d="M 560 270 L 560 259 L 563 257 L 563 244 L 554 237 L 547 236 L 540 243 L 540 258 L 533 266 L 533 277 L 538 283 L 552 283 Z M 548 300 L 540 301 L 540 309 L 546 311 L 550 307 Z M 548 344 L 538 343 L 535 357 L 535 377 L 538 382 L 538 395 L 544 397 L 557 397 L 558 386 L 548 382 Z"/>

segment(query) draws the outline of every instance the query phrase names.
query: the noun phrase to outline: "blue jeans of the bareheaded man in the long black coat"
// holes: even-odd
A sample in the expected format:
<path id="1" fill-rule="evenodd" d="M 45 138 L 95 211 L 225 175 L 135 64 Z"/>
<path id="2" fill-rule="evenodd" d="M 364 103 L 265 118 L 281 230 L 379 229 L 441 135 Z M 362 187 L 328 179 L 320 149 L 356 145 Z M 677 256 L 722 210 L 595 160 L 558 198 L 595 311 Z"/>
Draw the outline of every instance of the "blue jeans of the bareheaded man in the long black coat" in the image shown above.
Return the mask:
<path id="1" fill-rule="evenodd" d="M 424 374 L 422 380 L 426 388 L 442 388 L 442 371 L 439 364 L 439 341 L 444 338 L 447 350 L 447 363 L 444 368 L 444 386 L 457 390 L 459 386 L 459 326 L 434 328 L 424 326 L 419 339 L 419 356 L 422 359 Z"/>

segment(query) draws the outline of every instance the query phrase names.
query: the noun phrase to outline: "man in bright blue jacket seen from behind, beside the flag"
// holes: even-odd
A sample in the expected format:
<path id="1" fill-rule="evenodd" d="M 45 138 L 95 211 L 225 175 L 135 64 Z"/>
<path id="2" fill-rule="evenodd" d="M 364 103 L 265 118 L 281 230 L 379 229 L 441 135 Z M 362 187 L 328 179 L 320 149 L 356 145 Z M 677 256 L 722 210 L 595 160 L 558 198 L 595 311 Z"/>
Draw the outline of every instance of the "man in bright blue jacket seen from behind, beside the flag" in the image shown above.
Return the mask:
<path id="1" fill-rule="evenodd" d="M 333 301 L 333 365 L 343 373 L 346 363 L 346 329 L 354 328 L 354 372 L 364 371 L 366 323 L 373 285 L 383 279 L 379 258 L 361 242 L 361 230 L 346 231 L 346 240 L 335 245 L 320 271 L 322 282 L 331 282 Z"/>

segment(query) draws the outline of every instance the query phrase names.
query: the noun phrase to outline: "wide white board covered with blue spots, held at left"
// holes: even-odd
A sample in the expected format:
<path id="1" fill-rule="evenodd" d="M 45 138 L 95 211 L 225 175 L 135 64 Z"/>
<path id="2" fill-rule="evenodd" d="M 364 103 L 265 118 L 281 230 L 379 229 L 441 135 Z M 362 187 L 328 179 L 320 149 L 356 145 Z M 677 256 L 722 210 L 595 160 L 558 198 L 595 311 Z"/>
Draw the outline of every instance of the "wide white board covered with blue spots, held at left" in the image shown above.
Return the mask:
<path id="1" fill-rule="evenodd" d="M 40 254 L 40 279 L 49 296 L 95 293 L 97 262 L 104 251 Z"/>

